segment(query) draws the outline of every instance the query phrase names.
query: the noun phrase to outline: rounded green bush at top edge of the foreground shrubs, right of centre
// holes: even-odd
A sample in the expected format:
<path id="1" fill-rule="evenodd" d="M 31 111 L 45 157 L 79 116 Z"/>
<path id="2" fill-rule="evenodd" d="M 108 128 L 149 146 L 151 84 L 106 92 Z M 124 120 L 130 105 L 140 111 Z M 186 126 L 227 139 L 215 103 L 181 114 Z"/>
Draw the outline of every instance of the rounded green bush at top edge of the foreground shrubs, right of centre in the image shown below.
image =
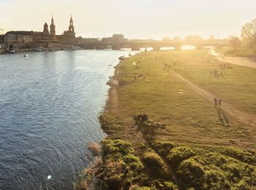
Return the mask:
<path id="1" fill-rule="evenodd" d="M 190 157 L 195 156 L 195 152 L 192 151 L 191 148 L 187 146 L 179 146 L 173 148 L 167 156 L 168 161 L 170 161 L 170 165 L 173 167 L 178 167 L 178 164 L 185 159 L 189 159 Z"/>

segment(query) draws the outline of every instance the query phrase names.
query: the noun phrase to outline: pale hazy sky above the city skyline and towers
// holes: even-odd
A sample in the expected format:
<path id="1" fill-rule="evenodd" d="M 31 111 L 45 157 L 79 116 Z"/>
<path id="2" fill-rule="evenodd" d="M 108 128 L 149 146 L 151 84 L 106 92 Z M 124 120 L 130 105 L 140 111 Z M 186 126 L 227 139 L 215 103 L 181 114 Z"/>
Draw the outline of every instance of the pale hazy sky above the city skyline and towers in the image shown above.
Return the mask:
<path id="1" fill-rule="evenodd" d="M 255 0 L 0 0 L 0 28 L 42 31 L 53 13 L 57 34 L 72 14 L 83 37 L 228 37 L 256 18 L 255 8 Z"/>

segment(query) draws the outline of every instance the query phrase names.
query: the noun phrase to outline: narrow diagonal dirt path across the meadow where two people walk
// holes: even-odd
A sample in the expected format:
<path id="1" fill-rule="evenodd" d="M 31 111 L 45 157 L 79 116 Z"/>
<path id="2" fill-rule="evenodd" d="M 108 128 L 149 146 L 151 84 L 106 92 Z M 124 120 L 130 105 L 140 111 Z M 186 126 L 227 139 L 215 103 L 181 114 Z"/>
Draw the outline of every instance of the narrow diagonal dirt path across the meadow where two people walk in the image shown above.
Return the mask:
<path id="1" fill-rule="evenodd" d="M 189 88 L 191 88 L 193 91 L 195 91 L 197 94 L 200 94 L 208 101 L 212 102 L 214 104 L 213 99 L 215 96 L 211 94 L 208 91 L 203 90 L 202 88 L 199 88 L 198 86 L 195 86 L 195 84 L 191 83 L 189 80 L 185 79 L 181 75 L 179 75 L 177 72 L 170 69 L 170 72 L 179 80 L 183 81 Z M 256 127 L 256 115 L 244 113 L 239 110 L 236 110 L 236 108 L 232 107 L 230 104 L 227 104 L 225 102 L 222 102 L 222 110 L 225 110 L 227 113 L 232 115 L 233 117 L 237 118 L 238 121 L 241 123 L 244 123 L 246 126 L 253 126 Z M 250 131 L 255 131 L 255 129 L 250 129 Z"/>

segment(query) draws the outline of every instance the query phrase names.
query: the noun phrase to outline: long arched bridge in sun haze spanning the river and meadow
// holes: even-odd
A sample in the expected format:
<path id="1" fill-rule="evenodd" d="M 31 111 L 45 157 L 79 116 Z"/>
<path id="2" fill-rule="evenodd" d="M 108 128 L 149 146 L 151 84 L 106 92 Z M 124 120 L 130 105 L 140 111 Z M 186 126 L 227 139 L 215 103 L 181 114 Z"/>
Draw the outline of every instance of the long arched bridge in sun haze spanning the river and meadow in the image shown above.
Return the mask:
<path id="1" fill-rule="evenodd" d="M 125 42 L 86 42 L 79 44 L 84 49 L 104 50 L 111 48 L 113 50 L 120 50 L 121 48 L 132 48 L 132 50 L 140 50 L 142 47 L 153 47 L 153 50 L 160 50 L 161 47 L 174 47 L 176 50 L 181 49 L 184 45 L 195 46 L 196 49 L 203 49 L 206 46 L 214 46 L 222 48 L 228 45 L 227 39 L 203 39 L 197 42 L 188 42 L 186 40 L 127 40 Z"/>

